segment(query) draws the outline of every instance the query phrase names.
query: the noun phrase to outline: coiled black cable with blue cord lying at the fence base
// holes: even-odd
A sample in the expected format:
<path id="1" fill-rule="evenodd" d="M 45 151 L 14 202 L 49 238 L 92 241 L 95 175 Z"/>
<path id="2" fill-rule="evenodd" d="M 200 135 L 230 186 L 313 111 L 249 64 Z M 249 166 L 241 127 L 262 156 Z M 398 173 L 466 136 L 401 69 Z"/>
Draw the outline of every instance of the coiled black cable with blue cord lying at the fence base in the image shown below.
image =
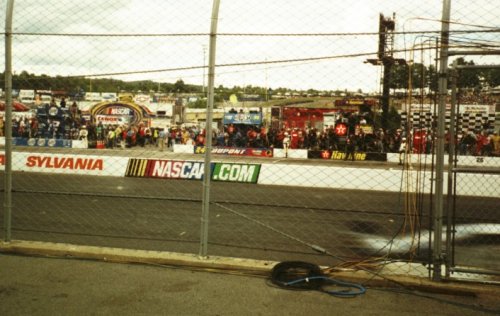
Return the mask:
<path id="1" fill-rule="evenodd" d="M 319 266 L 302 261 L 283 261 L 275 265 L 271 282 L 289 290 L 316 290 L 337 297 L 355 297 L 366 292 L 360 284 L 331 279 Z"/>

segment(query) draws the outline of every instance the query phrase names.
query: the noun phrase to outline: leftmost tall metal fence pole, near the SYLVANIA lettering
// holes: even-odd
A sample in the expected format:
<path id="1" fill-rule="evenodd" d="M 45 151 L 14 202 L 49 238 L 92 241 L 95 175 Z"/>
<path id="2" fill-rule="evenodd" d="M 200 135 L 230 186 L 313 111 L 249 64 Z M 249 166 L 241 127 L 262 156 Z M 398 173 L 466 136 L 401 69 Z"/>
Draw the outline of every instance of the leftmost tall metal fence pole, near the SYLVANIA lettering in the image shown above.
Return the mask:
<path id="1" fill-rule="evenodd" d="M 8 0 L 5 12 L 5 192 L 4 241 L 11 240 L 12 221 L 12 15 L 14 0 Z"/>

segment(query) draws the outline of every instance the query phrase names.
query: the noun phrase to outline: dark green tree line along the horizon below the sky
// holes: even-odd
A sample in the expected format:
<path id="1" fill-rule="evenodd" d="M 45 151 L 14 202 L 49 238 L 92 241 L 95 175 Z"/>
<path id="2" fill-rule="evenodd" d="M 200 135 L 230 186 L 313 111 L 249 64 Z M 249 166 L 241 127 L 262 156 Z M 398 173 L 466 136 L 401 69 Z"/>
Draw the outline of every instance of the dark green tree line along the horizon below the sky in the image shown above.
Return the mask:
<path id="1" fill-rule="evenodd" d="M 457 59 L 458 65 L 474 65 L 474 61 L 466 61 L 464 58 Z M 415 63 L 413 65 L 395 65 L 392 67 L 390 87 L 391 89 L 409 89 L 410 80 L 409 73 L 411 71 L 411 88 L 422 89 L 428 88 L 430 91 L 437 91 L 438 73 L 434 65 L 425 66 Z M 58 90 L 65 91 L 68 95 L 81 95 L 85 92 L 134 92 L 142 91 L 149 93 L 150 91 L 158 93 L 192 93 L 203 95 L 206 94 L 205 87 L 201 85 L 186 84 L 182 79 L 174 83 L 159 83 L 152 80 L 141 81 L 123 81 L 111 78 L 87 78 L 87 77 L 65 77 L 65 76 L 48 76 L 45 74 L 36 75 L 27 71 L 22 71 L 12 76 L 13 89 L 27 90 Z M 461 71 L 458 79 L 458 85 L 461 88 L 470 88 L 475 91 L 480 91 L 482 88 L 496 87 L 500 85 L 500 69 L 471 69 Z M 0 86 L 5 86 L 5 74 L 0 77 Z M 266 87 L 248 85 L 245 87 L 233 86 L 224 87 L 219 85 L 215 88 L 216 97 L 219 99 L 229 99 L 231 94 L 236 95 L 259 95 L 271 96 L 272 94 L 282 94 L 287 92 L 296 92 L 284 87 L 275 88 L 274 90 Z M 308 89 L 301 91 L 311 95 L 321 95 L 324 91 Z M 336 89 L 328 91 L 328 94 L 340 95 L 344 91 Z M 357 92 L 362 93 L 361 89 Z"/>

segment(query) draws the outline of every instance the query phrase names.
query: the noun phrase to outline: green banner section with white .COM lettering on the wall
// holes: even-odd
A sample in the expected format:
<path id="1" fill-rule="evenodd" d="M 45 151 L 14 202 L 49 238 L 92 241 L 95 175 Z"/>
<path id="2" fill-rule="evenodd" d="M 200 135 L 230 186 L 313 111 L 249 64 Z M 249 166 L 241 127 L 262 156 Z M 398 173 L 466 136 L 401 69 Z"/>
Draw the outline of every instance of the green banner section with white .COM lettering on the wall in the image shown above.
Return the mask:
<path id="1" fill-rule="evenodd" d="M 216 163 L 212 171 L 212 180 L 257 183 L 260 165 Z"/>

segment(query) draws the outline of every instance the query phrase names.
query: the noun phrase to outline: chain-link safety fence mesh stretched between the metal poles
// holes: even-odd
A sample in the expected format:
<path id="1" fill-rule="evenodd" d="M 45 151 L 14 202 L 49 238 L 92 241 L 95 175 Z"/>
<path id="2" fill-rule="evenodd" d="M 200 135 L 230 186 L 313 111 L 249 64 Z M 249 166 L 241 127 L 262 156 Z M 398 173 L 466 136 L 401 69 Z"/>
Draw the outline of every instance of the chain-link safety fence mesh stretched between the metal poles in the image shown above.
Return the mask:
<path id="1" fill-rule="evenodd" d="M 222 1 L 210 86 L 211 1 L 15 2 L 4 239 L 189 254 L 205 243 L 209 256 L 417 262 L 426 275 L 442 10 Z M 452 1 L 449 49 L 489 51 L 461 64 L 498 64 L 499 14 L 491 1 Z M 460 128 L 491 145 L 460 153 L 467 167 L 500 166 L 498 74 L 461 82 Z M 461 177 L 453 223 L 488 230 L 488 246 L 473 262 L 473 241 L 447 251 L 492 268 L 498 175 Z"/>

